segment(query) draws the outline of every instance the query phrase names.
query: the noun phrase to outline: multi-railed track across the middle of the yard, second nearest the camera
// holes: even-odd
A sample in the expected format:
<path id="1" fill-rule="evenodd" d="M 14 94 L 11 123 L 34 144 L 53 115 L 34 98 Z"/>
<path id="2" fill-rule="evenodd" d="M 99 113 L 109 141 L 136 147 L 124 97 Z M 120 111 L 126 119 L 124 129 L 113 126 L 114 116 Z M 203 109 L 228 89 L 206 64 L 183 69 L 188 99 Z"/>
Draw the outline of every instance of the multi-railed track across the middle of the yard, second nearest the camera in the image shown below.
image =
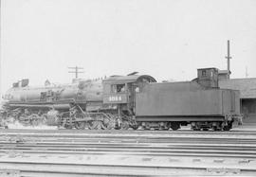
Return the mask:
<path id="1" fill-rule="evenodd" d="M 135 147 L 135 146 L 3 146 L 1 145 L 0 153 L 27 153 L 27 154 L 126 154 L 126 155 L 147 155 L 147 156 L 190 156 L 190 157 L 206 157 L 206 158 L 236 158 L 247 160 L 256 160 L 255 148 L 231 148 L 221 147 L 212 148 L 210 146 L 176 146 L 172 148 L 162 147 Z"/>

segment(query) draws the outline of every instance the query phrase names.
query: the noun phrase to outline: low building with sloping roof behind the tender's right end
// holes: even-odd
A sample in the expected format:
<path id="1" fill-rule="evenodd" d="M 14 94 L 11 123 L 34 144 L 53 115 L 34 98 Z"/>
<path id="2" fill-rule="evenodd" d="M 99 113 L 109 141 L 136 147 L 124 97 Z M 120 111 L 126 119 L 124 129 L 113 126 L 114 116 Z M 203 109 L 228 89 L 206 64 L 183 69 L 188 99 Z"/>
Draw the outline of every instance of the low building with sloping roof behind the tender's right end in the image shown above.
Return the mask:
<path id="1" fill-rule="evenodd" d="M 244 122 L 256 123 L 256 78 L 227 80 L 225 74 L 219 75 L 219 87 L 240 90 L 241 113 Z"/>

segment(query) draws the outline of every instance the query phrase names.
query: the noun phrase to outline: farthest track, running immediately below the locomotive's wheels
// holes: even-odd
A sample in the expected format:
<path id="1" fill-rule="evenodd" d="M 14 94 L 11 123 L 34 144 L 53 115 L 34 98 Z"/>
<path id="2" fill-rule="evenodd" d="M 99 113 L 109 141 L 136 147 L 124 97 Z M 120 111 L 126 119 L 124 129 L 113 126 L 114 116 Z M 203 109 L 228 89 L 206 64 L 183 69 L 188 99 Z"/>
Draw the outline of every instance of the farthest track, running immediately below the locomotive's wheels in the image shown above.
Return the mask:
<path id="1" fill-rule="evenodd" d="M 78 130 L 0 130 L 1 135 L 22 136 L 62 136 L 62 137 L 82 137 L 82 136 L 103 136 L 103 137 L 214 137 L 218 138 L 251 138 L 256 136 L 256 131 L 233 131 L 233 132 L 193 132 L 193 131 L 78 131 Z"/>

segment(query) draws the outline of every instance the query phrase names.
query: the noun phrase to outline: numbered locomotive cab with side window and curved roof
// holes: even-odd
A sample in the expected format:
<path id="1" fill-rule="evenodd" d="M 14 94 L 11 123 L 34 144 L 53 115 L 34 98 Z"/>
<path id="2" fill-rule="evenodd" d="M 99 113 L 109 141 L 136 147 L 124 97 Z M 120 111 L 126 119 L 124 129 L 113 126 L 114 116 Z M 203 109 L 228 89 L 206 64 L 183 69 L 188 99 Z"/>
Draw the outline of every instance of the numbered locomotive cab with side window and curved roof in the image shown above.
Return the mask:
<path id="1" fill-rule="evenodd" d="M 135 110 L 136 92 L 145 84 L 155 81 L 147 75 L 112 76 L 103 80 L 103 104 L 132 114 Z"/>

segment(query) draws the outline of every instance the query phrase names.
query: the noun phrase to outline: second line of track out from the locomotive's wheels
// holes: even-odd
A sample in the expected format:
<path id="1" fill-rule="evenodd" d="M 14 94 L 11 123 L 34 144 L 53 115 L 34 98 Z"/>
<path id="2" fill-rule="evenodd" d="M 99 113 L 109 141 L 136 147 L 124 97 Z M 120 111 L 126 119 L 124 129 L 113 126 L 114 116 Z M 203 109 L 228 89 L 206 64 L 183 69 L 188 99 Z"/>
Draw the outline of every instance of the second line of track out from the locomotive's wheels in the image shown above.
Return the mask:
<path id="1" fill-rule="evenodd" d="M 159 143 L 159 144 L 168 144 L 168 143 L 209 143 L 209 144 L 256 144 L 256 138 L 219 138 L 219 137 L 65 137 L 65 136 L 24 136 L 24 135 L 3 135 L 0 136 L 0 142 L 63 142 L 63 143 L 90 143 L 90 142 L 98 142 L 98 143 Z"/>

